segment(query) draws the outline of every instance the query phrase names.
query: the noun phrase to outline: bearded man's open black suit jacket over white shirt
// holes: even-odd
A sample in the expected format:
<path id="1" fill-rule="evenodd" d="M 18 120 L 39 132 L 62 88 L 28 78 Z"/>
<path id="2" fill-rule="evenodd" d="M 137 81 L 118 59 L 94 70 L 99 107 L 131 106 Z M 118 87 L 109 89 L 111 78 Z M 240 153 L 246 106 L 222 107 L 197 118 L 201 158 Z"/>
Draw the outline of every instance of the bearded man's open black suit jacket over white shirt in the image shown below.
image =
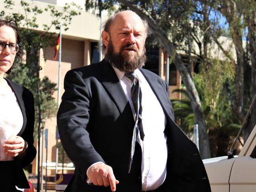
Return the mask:
<path id="1" fill-rule="evenodd" d="M 174 122 L 168 86 L 156 74 L 141 69 L 165 115 L 168 142 L 166 191 L 208 192 L 210 185 L 197 147 Z M 141 148 L 128 162 L 134 117 L 115 71 L 106 61 L 67 72 L 57 122 L 61 142 L 76 167 L 65 191 L 110 192 L 87 185 L 86 171 L 102 161 L 113 168 L 117 192 L 141 192 Z"/>

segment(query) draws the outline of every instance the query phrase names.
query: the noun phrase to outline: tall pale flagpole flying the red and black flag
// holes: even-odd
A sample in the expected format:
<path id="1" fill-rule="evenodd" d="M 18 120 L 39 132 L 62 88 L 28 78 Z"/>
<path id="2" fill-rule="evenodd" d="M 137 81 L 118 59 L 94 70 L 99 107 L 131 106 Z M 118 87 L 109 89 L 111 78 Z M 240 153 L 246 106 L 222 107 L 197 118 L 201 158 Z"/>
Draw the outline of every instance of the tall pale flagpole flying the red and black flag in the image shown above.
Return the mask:
<path id="1" fill-rule="evenodd" d="M 61 69 L 61 26 L 59 28 L 59 71 L 58 71 L 58 107 L 60 104 L 60 69 Z M 57 168 L 58 168 L 58 126 L 56 126 L 56 164 L 55 164 L 55 178 L 56 182 L 57 177 Z"/>

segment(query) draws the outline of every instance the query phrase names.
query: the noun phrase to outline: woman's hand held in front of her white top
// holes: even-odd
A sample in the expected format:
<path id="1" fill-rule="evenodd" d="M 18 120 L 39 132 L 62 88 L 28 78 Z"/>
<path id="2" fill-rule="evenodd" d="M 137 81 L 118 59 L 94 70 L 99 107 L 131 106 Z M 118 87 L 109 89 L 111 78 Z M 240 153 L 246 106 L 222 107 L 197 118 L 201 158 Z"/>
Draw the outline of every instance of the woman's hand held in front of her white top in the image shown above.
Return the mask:
<path id="1" fill-rule="evenodd" d="M 4 151 L 7 156 L 16 157 L 23 151 L 25 141 L 22 137 L 11 136 L 8 139 L 4 140 Z"/>

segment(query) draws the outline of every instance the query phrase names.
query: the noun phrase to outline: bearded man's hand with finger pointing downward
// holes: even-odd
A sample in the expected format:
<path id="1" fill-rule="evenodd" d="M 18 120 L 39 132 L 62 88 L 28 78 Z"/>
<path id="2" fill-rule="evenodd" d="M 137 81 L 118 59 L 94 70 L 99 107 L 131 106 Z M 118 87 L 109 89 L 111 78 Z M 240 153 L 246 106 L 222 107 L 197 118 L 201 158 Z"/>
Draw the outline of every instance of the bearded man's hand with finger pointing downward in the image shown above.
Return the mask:
<path id="1" fill-rule="evenodd" d="M 116 190 L 116 186 L 119 181 L 115 179 L 113 170 L 110 166 L 102 163 L 91 166 L 87 171 L 87 176 L 93 182 L 93 185 L 109 186 L 111 191 Z"/>

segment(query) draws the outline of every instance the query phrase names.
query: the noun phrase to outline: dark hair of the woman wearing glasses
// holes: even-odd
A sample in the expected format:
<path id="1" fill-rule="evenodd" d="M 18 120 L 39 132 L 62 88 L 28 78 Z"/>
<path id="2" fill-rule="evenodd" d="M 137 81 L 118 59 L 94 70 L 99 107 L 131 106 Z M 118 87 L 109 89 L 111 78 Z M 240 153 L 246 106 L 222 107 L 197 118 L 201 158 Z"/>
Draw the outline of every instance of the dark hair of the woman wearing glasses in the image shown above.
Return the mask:
<path id="1" fill-rule="evenodd" d="M 4 19 L 0 19 L 0 27 L 2 26 L 8 26 L 10 28 L 13 29 L 13 31 L 15 32 L 15 35 L 16 35 L 16 43 L 21 45 L 21 38 L 20 38 L 20 33 L 19 33 L 19 28 L 17 27 L 17 25 L 15 24 L 15 22 L 13 20 L 4 20 Z M 19 51 L 17 52 L 17 57 L 21 57 L 23 54 L 23 49 L 22 49 L 22 46 L 20 46 L 20 49 Z M 13 70 L 14 68 L 14 64 L 11 66 L 11 68 L 6 72 L 6 74 L 10 74 L 11 73 L 11 70 Z"/>

